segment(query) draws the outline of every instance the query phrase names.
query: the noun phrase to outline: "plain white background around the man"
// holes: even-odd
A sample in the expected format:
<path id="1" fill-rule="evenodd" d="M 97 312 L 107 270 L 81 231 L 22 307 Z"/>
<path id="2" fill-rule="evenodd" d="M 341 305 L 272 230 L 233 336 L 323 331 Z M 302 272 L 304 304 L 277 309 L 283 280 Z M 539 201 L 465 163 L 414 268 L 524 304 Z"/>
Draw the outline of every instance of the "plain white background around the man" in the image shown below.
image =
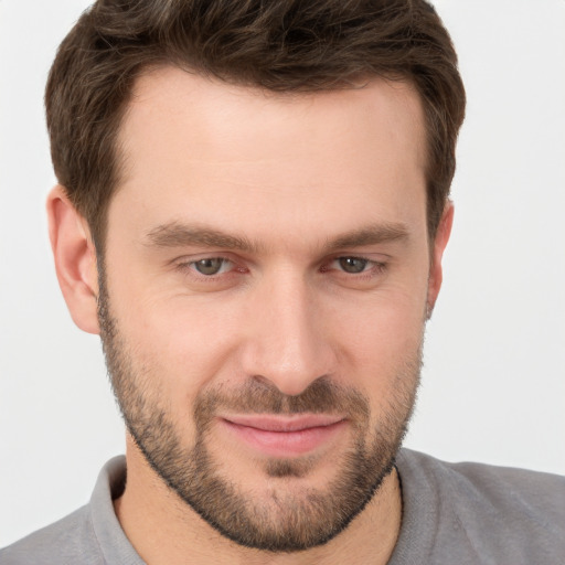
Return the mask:
<path id="1" fill-rule="evenodd" d="M 0 0 L 0 546 L 124 449 L 98 339 L 66 312 L 42 94 L 81 0 Z M 406 444 L 565 472 L 565 1 L 441 0 L 469 107 L 456 224 Z"/>

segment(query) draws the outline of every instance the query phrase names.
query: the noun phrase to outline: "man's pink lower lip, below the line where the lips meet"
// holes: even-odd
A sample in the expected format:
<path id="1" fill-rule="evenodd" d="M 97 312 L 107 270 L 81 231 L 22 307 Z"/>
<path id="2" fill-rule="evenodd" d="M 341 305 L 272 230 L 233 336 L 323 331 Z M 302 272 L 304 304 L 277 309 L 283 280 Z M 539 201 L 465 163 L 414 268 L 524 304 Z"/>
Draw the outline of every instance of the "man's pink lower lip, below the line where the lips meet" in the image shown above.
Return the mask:
<path id="1" fill-rule="evenodd" d="M 270 431 L 221 420 L 241 441 L 270 457 L 305 455 L 327 445 L 344 427 L 345 420 L 295 431 Z"/>

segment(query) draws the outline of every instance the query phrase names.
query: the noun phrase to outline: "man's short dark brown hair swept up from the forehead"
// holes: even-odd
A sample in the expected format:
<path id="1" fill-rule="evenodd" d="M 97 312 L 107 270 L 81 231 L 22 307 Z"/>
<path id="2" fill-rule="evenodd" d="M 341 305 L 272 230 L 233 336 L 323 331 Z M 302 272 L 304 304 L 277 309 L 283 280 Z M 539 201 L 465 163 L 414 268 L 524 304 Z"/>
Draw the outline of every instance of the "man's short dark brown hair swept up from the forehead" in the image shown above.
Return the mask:
<path id="1" fill-rule="evenodd" d="M 351 87 L 374 75 L 409 81 L 426 116 L 435 234 L 466 98 L 449 34 L 426 1 L 98 0 L 61 44 L 45 92 L 55 173 L 98 253 L 134 82 L 164 64 L 275 92 Z"/>

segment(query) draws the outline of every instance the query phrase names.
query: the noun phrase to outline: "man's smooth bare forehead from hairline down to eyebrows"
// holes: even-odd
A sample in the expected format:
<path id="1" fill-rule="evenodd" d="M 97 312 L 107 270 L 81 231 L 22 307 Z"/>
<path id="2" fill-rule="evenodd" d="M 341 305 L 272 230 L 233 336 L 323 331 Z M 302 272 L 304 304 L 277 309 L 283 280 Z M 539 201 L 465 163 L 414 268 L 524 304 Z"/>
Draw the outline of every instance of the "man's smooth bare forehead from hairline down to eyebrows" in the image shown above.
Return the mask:
<path id="1" fill-rule="evenodd" d="M 119 132 L 125 175 L 110 216 L 138 206 L 139 228 L 141 216 L 156 225 L 198 216 L 257 237 L 262 227 L 323 230 L 324 214 L 411 221 L 397 216 L 425 214 L 424 140 L 409 84 L 277 94 L 152 70 Z"/>

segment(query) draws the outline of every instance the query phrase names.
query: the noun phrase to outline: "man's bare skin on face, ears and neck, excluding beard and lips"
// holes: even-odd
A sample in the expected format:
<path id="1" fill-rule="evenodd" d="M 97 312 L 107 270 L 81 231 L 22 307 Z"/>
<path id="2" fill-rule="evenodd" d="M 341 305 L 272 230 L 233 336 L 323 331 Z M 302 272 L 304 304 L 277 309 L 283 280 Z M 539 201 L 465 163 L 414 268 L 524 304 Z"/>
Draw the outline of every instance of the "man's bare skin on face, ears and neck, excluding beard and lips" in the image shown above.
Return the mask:
<path id="1" fill-rule="evenodd" d="M 136 366 L 154 377 L 148 397 L 167 406 L 183 445 L 203 390 L 249 380 L 299 395 L 319 379 L 360 391 L 371 418 L 386 412 L 417 356 L 441 284 L 452 209 L 426 231 L 424 120 L 409 85 L 276 95 L 175 68 L 142 76 L 120 143 L 125 174 L 108 214 L 105 273 L 113 316 Z M 99 333 L 96 254 L 86 222 L 62 188 L 47 210 L 60 284 L 73 319 Z M 255 243 L 254 248 L 152 245 L 148 234 L 188 224 Z M 329 248 L 375 227 L 402 236 Z M 230 263 L 206 279 L 203 258 Z M 370 260 L 345 273 L 340 257 Z M 417 386 L 417 374 L 404 383 Z M 156 382 L 157 381 L 157 382 Z M 250 447 L 216 418 L 211 449 L 244 492 L 268 504 L 276 455 Z M 324 490 L 349 449 L 348 422 L 307 455 L 305 477 L 277 484 L 300 495 Z M 284 446 L 282 446 L 284 449 Z M 303 454 L 294 455 L 299 458 Z M 386 563 L 401 521 L 393 472 L 363 512 L 328 544 L 266 554 L 222 537 L 173 494 L 128 436 L 128 482 L 116 512 L 129 540 L 160 563 Z"/>

